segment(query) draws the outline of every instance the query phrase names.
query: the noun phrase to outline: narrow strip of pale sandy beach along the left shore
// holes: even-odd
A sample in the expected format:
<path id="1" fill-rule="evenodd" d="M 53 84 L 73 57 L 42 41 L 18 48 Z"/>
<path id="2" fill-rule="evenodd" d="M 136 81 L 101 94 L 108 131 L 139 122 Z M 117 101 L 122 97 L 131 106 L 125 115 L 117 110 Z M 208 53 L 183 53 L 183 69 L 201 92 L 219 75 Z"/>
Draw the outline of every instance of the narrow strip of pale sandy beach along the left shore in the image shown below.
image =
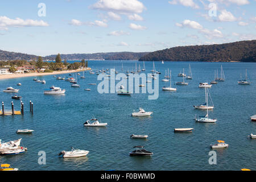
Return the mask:
<path id="1" fill-rule="evenodd" d="M 74 73 L 90 70 L 91 68 L 86 69 L 76 69 L 76 70 L 65 70 L 65 71 L 55 71 L 52 73 L 22 73 L 22 74 L 10 74 L 10 75 L 0 75 L 0 80 L 2 79 L 10 79 L 10 78 L 19 78 L 19 77 L 36 77 L 36 76 L 44 76 L 44 75 L 59 75 L 66 73 Z"/>

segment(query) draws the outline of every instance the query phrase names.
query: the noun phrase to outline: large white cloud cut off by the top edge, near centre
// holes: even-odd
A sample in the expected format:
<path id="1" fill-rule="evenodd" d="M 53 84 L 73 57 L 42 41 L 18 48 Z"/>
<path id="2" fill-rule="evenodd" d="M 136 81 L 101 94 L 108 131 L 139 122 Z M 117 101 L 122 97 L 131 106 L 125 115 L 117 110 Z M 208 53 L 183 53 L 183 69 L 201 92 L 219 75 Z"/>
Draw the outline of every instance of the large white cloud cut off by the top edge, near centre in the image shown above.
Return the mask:
<path id="1" fill-rule="evenodd" d="M 143 3 L 138 0 L 100 0 L 91 7 L 115 13 L 142 13 L 146 9 Z"/>

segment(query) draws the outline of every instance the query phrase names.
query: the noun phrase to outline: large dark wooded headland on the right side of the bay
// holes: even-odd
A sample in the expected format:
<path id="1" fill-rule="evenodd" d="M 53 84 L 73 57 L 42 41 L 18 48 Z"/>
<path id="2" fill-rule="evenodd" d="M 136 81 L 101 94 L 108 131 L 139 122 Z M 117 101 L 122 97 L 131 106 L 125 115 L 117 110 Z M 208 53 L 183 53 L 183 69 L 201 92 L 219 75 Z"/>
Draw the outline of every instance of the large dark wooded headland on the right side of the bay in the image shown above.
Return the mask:
<path id="1" fill-rule="evenodd" d="M 208 46 L 182 46 L 155 51 L 139 61 L 243 61 L 256 62 L 256 40 Z"/>

